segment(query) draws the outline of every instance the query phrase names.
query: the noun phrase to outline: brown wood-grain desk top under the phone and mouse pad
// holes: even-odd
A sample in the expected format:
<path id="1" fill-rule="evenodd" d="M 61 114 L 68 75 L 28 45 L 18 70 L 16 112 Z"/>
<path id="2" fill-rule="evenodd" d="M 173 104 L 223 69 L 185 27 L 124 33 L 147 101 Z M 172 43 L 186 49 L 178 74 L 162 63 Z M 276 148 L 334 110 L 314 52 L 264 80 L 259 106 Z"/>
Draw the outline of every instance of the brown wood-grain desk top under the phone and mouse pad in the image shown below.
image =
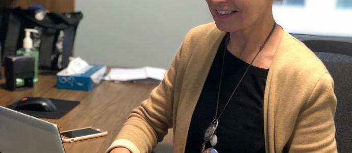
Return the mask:
<path id="1" fill-rule="evenodd" d="M 60 131 L 95 126 L 109 132 L 108 136 L 89 140 L 64 143 L 66 152 L 104 152 L 113 142 L 131 110 L 140 105 L 157 85 L 113 83 L 104 81 L 90 92 L 56 89 L 55 75 L 39 75 L 34 89 L 8 91 L 5 79 L 0 80 L 0 105 L 7 106 L 22 97 L 41 96 L 81 101 L 81 104 L 61 119 L 44 119 L 59 126 Z M 165 138 L 172 143 L 172 135 Z M 157 152 L 157 151 L 156 151 Z"/>

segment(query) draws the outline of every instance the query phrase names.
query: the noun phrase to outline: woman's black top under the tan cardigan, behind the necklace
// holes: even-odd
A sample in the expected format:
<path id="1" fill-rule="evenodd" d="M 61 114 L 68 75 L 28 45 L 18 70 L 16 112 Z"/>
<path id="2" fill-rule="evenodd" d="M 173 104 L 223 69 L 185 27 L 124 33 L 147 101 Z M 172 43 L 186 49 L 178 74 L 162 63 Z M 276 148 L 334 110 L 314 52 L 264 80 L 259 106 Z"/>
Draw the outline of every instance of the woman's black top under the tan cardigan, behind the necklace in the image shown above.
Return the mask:
<path id="1" fill-rule="evenodd" d="M 215 117 L 224 47 L 222 40 L 193 112 L 185 152 L 200 152 L 204 132 Z M 249 65 L 227 49 L 225 54 L 218 114 Z M 218 152 L 265 152 L 263 99 L 267 74 L 268 69 L 255 66 L 248 69 L 219 119 L 218 141 L 214 146 Z"/>

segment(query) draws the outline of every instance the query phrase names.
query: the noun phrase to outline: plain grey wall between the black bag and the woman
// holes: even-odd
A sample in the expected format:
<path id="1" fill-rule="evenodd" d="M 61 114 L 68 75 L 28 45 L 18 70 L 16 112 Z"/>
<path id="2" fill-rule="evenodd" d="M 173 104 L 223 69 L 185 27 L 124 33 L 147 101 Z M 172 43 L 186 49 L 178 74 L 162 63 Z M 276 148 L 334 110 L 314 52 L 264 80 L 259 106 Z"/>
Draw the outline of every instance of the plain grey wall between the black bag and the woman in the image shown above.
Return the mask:
<path id="1" fill-rule="evenodd" d="M 184 35 L 213 21 L 205 1 L 76 0 L 74 56 L 112 66 L 168 68 Z"/>

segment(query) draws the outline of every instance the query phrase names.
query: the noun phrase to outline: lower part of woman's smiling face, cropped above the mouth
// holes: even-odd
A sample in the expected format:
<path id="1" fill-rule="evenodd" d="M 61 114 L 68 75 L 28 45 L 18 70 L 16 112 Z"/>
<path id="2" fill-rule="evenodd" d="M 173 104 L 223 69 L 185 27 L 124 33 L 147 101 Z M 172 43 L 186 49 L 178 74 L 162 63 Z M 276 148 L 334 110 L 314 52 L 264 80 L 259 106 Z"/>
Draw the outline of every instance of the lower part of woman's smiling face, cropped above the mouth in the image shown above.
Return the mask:
<path id="1" fill-rule="evenodd" d="M 216 26 L 224 32 L 244 30 L 271 15 L 272 0 L 206 0 Z"/>

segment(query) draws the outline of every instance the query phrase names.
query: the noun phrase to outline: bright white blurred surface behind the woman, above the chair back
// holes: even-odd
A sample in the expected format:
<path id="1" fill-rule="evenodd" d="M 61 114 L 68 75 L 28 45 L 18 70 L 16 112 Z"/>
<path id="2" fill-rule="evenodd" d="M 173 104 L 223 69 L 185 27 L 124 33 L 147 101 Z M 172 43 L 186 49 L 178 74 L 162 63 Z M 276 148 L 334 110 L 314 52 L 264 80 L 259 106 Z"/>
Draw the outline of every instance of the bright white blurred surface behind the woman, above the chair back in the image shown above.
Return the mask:
<path id="1" fill-rule="evenodd" d="M 352 9 L 338 8 L 336 0 L 305 0 L 303 7 L 274 6 L 273 14 L 290 33 L 352 37 Z"/>

